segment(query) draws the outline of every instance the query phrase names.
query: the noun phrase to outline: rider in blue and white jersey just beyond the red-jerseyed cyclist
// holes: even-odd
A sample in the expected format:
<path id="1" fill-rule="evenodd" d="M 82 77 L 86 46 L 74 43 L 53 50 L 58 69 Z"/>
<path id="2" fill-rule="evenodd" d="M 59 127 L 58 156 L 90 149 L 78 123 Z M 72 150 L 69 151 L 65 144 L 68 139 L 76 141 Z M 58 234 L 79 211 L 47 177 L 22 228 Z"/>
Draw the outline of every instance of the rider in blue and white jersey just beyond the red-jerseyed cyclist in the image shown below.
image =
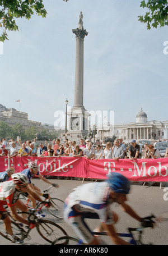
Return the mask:
<path id="1" fill-rule="evenodd" d="M 52 183 L 40 175 L 38 166 L 35 162 L 29 162 L 28 168 L 23 170 L 21 173 L 24 173 L 24 175 L 27 176 L 27 179 L 29 180 L 29 188 L 40 196 L 43 196 L 43 193 L 41 193 L 41 190 L 37 186 L 35 186 L 34 184 L 31 183 L 31 179 L 32 179 L 32 177 L 34 177 L 34 175 L 37 175 L 44 182 L 55 186 L 55 188 L 59 188 L 58 184 Z M 27 196 L 27 198 L 29 198 L 31 200 L 31 205 L 33 208 L 35 208 L 36 200 L 31 195 L 27 195 L 26 193 L 24 195 Z"/>

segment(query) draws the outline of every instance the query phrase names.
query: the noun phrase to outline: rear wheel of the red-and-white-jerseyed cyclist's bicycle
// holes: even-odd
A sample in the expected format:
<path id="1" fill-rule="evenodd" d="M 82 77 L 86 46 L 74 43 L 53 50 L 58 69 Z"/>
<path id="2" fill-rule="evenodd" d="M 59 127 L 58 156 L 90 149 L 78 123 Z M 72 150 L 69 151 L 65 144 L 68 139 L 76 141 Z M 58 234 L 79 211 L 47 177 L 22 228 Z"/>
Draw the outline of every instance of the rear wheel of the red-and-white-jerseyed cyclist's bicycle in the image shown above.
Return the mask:
<path id="1" fill-rule="evenodd" d="M 11 222 L 11 227 L 13 234 L 19 237 L 20 239 L 22 238 L 22 228 L 15 222 Z M 0 235 L 6 238 L 7 240 L 12 241 L 12 237 L 7 233 L 7 231 L 4 228 L 3 221 L 0 221 Z"/>

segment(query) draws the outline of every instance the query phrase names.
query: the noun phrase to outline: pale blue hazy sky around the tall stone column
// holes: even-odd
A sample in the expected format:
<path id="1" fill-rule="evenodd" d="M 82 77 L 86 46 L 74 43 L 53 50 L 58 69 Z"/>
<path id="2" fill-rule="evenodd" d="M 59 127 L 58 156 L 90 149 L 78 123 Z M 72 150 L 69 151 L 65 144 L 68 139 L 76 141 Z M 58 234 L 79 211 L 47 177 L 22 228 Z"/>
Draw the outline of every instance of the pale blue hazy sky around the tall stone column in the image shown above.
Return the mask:
<path id="1" fill-rule="evenodd" d="M 114 111 L 115 124 L 168 120 L 168 27 L 147 30 L 141 0 L 44 0 L 46 18 L 16 21 L 0 54 L 0 104 L 54 124 L 74 105 L 76 29 L 83 14 L 84 93 L 88 111 Z"/>

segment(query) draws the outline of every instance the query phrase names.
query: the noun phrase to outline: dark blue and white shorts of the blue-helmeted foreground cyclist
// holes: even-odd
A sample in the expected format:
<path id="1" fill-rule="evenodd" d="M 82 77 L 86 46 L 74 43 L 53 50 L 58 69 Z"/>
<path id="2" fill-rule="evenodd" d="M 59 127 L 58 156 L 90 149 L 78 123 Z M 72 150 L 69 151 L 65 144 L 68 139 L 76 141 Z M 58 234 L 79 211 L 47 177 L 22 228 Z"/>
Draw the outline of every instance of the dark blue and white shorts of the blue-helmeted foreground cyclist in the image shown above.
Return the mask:
<path id="1" fill-rule="evenodd" d="M 73 205 L 71 208 L 64 203 L 63 218 L 64 221 L 66 221 L 67 224 L 73 228 L 74 232 L 76 232 L 77 236 L 80 237 L 84 243 L 91 243 L 91 241 L 94 239 L 94 235 L 87 226 L 85 218 L 99 219 L 99 215 L 97 213 L 81 211 L 80 205 Z"/>

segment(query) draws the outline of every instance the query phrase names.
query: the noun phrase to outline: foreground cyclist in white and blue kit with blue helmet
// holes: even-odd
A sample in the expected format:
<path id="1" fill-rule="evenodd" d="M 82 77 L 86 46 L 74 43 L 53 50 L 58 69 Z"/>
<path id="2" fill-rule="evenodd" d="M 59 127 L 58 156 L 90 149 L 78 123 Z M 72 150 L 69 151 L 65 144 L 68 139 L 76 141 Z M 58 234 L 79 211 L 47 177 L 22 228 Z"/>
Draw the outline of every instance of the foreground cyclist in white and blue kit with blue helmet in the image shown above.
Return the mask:
<path id="1" fill-rule="evenodd" d="M 85 222 L 85 218 L 100 219 L 99 231 L 105 230 L 114 244 L 129 244 L 116 234 L 114 224 L 118 221 L 116 213 L 110 211 L 110 204 L 116 202 L 137 221 L 143 219 L 126 204 L 130 182 L 120 173 L 110 173 L 108 180 L 78 186 L 64 202 L 64 220 L 73 228 L 78 237 L 87 244 L 100 244 L 98 237 Z M 101 230 L 100 230 L 101 229 Z"/>

